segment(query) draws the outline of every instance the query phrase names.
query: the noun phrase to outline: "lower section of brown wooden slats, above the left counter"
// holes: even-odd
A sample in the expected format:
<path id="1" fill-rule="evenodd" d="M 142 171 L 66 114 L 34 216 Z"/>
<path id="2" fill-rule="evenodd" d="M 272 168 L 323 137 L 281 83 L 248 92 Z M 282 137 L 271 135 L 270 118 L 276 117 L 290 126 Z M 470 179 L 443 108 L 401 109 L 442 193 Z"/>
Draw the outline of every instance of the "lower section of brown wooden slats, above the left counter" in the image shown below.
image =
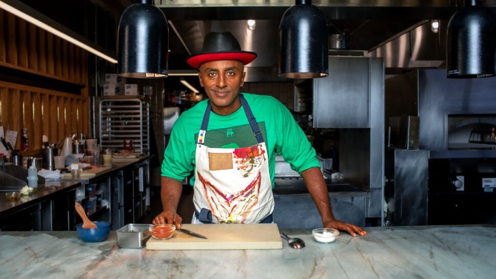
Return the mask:
<path id="1" fill-rule="evenodd" d="M 27 128 L 29 150 L 41 148 L 41 135 L 58 142 L 71 131 L 88 134 L 87 106 L 82 96 L 0 81 L 0 124 L 19 133 Z M 20 135 L 15 145 L 20 149 Z"/>

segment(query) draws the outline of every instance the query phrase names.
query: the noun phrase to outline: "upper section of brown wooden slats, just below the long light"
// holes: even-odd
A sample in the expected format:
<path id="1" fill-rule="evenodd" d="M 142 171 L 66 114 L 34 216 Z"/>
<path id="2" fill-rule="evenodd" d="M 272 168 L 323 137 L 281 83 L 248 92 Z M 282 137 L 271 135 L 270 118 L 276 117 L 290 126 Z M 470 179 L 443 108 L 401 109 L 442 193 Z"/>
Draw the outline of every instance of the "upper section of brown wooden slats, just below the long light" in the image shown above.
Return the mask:
<path id="1" fill-rule="evenodd" d="M 86 85 L 86 51 L 0 10 L 0 65 Z"/>

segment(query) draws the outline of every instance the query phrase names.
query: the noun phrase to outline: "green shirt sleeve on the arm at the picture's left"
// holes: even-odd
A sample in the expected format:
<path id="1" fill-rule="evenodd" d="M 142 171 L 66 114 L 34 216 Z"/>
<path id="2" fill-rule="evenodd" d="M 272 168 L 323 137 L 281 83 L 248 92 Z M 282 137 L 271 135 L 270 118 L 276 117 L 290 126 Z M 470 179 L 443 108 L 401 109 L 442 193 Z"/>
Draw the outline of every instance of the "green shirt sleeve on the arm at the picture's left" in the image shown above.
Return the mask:
<path id="1" fill-rule="evenodd" d="M 179 181 L 183 181 L 193 172 L 194 154 L 191 154 L 191 146 L 196 147 L 194 139 L 191 139 L 189 134 L 185 132 L 183 120 L 179 117 L 174 124 L 162 162 L 162 176 Z"/>

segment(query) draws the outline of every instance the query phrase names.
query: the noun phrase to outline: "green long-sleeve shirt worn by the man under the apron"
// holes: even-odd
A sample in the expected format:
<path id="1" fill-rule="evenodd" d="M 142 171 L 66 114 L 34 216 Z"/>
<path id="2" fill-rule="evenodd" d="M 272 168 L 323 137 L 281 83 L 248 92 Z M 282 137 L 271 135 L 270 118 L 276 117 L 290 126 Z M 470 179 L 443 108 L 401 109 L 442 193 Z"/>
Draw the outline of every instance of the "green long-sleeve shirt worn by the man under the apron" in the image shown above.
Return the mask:
<path id="1" fill-rule="evenodd" d="M 277 154 L 282 155 L 291 168 L 302 172 L 319 167 L 315 150 L 308 142 L 289 110 L 272 96 L 243 93 L 250 105 L 265 139 L 268 153 L 270 181 L 274 186 Z M 169 144 L 164 152 L 162 176 L 183 181 L 195 169 L 195 150 L 207 100 L 185 111 L 172 128 Z M 242 148 L 257 144 L 244 109 L 229 115 L 210 113 L 205 145 L 210 148 Z M 275 152 L 274 152 L 275 151 Z M 191 185 L 194 184 L 194 177 Z"/>

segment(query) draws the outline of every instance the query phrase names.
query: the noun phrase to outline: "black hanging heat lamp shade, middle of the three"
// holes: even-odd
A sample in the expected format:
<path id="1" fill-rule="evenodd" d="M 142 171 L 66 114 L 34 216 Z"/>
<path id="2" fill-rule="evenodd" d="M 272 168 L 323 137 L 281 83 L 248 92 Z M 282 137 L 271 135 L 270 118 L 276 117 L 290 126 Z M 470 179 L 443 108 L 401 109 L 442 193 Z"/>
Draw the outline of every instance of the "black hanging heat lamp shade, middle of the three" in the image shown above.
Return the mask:
<path id="1" fill-rule="evenodd" d="M 310 0 L 296 0 L 279 25 L 279 76 L 322 78 L 329 74 L 327 20 Z"/>

